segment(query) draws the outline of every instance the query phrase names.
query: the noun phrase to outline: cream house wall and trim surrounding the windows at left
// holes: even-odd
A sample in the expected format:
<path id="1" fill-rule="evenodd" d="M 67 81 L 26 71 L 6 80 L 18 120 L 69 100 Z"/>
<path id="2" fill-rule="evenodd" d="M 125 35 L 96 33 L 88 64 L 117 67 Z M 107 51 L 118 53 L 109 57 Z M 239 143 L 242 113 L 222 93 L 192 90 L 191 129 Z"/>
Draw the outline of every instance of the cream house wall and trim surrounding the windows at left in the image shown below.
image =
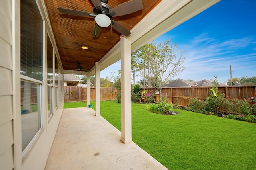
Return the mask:
<path id="1" fill-rule="evenodd" d="M 47 77 L 41 84 L 42 128 L 32 139 L 24 156 L 22 153 L 21 77 L 20 74 L 20 1 L 0 0 L 0 169 L 44 169 L 48 154 L 63 111 L 63 87 L 61 79 L 53 88 L 53 114 L 48 118 Z M 43 1 L 36 1 L 44 20 L 44 39 L 49 35 L 59 60 L 54 36 L 50 29 Z M 45 43 L 46 41 L 44 41 Z M 43 43 L 43 42 L 42 42 Z M 44 73 L 47 73 L 46 44 L 44 46 Z M 62 74 L 59 63 L 56 73 Z M 24 76 L 23 76 L 24 78 Z M 63 76 L 60 76 L 63 80 Z M 29 79 L 29 78 L 28 78 Z M 32 79 L 31 79 L 32 80 Z M 63 83 L 62 83 L 63 84 Z M 58 90 L 55 91 L 55 90 Z M 62 97 L 61 97 L 62 96 Z M 57 101 L 56 101 L 57 100 Z"/>

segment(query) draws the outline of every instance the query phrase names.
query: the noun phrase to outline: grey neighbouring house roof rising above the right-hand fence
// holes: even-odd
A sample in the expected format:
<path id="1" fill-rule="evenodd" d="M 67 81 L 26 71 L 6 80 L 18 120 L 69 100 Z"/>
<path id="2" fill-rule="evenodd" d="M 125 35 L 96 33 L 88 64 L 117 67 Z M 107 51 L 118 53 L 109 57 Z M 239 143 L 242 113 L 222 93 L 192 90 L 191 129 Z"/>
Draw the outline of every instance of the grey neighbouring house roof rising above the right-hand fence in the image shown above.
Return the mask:
<path id="1" fill-rule="evenodd" d="M 190 82 L 187 80 L 182 80 L 180 78 L 173 80 L 167 84 L 165 84 L 163 87 L 191 87 L 191 86 L 215 86 L 216 84 L 214 82 L 211 82 L 210 80 L 202 80 L 198 82 Z M 219 83 L 219 86 L 227 86 L 223 83 Z"/>

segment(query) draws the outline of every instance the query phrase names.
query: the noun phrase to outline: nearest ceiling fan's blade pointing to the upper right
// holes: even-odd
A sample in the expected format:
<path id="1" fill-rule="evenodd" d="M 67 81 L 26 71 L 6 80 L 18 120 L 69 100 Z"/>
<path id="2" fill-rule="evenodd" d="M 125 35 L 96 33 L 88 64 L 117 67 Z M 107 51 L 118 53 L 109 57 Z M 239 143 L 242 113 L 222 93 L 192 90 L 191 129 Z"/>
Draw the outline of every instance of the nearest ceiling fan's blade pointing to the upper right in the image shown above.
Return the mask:
<path id="1" fill-rule="evenodd" d="M 130 0 L 112 8 L 109 10 L 109 14 L 113 17 L 123 16 L 141 10 L 142 8 L 141 0 Z"/>

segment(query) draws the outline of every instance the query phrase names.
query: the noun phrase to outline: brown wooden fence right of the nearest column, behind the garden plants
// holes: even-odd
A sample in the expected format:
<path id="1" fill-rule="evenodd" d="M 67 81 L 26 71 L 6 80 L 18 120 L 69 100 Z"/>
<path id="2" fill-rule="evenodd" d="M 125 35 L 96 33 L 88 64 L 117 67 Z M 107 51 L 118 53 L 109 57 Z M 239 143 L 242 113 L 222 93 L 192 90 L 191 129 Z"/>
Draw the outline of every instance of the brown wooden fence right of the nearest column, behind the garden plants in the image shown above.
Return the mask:
<path id="1" fill-rule="evenodd" d="M 198 87 L 173 87 L 162 88 L 162 95 L 168 98 L 168 102 L 172 102 L 178 106 L 188 106 L 189 98 L 206 99 L 210 94 L 210 86 Z M 230 99 L 248 99 L 250 96 L 256 95 L 256 86 L 219 86 L 221 93 Z M 142 89 L 144 90 L 144 89 Z M 156 88 L 145 88 L 150 93 L 155 93 Z M 156 95 L 159 100 L 159 95 Z"/>

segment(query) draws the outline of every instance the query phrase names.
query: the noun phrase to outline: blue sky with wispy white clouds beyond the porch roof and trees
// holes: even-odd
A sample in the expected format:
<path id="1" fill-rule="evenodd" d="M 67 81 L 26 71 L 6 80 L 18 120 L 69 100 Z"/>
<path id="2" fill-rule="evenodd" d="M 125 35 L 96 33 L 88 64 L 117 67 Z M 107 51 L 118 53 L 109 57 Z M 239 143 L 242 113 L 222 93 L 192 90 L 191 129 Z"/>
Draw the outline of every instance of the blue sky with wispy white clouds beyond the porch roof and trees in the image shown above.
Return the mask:
<path id="1" fill-rule="evenodd" d="M 185 70 L 173 79 L 200 81 L 214 76 L 224 83 L 232 77 L 256 76 L 256 0 L 222 0 L 158 37 L 185 50 Z M 100 72 L 120 70 L 120 61 Z"/>

